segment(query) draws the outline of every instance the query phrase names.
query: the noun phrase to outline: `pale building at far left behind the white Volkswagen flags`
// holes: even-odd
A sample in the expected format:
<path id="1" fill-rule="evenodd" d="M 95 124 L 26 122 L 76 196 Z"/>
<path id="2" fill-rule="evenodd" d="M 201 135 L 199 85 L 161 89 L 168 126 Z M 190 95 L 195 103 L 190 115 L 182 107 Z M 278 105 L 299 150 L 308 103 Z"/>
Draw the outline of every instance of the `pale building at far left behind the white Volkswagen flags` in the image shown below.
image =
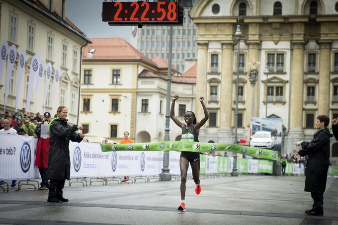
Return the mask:
<path id="1" fill-rule="evenodd" d="M 7 40 L 9 46 L 16 46 L 18 53 L 14 72 L 10 77 L 6 111 L 15 110 L 18 55 L 21 50 L 25 50 L 25 71 L 21 83 L 18 84 L 21 89 L 18 108 L 26 106 L 30 64 L 33 56 L 38 54 L 45 64 L 45 69 L 48 63 L 53 66 L 52 78 L 47 87 L 48 98 L 45 110 L 54 115 L 57 108 L 64 105 L 69 109 L 70 123 L 77 123 L 81 51 L 89 40 L 65 17 L 65 5 L 65 0 L 2 0 L 0 2 L 0 42 Z M 55 93 L 52 93 L 52 80 L 56 67 L 60 67 L 60 86 Z M 6 61 L 4 68 L 6 68 Z M 4 95 L 5 73 L 4 69 L 0 81 L 0 96 Z M 31 112 L 43 113 L 44 83 L 45 76 L 38 90 L 34 85 L 30 101 Z M 3 110 L 3 106 L 4 98 L 1 97 L 0 110 Z"/>

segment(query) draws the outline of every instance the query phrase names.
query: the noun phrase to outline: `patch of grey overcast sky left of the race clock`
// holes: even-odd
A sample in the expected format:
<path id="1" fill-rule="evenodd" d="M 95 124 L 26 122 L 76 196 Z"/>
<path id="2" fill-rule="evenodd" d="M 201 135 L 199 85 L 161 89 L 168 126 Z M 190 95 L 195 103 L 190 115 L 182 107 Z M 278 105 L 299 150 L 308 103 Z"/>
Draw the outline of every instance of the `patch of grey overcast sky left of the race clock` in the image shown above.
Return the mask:
<path id="1" fill-rule="evenodd" d="M 67 0 L 66 16 L 88 38 L 122 37 L 130 43 L 130 26 L 109 26 L 102 22 L 102 2 L 103 0 Z"/>

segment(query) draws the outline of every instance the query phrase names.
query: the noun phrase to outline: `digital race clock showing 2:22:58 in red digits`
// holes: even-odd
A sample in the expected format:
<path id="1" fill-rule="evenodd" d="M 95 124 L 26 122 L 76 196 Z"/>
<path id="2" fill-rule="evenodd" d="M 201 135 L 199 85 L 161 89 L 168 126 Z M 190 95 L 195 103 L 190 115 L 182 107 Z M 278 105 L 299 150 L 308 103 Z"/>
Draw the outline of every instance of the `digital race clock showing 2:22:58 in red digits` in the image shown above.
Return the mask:
<path id="1" fill-rule="evenodd" d="M 102 21 L 109 25 L 180 25 L 183 22 L 183 8 L 175 1 L 104 1 Z"/>

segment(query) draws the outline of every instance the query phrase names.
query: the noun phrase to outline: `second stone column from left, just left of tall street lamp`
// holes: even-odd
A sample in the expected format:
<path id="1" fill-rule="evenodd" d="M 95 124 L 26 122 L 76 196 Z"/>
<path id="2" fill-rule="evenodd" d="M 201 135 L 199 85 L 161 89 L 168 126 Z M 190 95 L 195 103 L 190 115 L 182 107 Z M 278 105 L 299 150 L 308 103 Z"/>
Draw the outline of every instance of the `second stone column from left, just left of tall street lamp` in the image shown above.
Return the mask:
<path id="1" fill-rule="evenodd" d="M 220 128 L 218 140 L 222 143 L 233 143 L 232 93 L 233 93 L 233 41 L 222 41 L 222 73 L 220 88 Z"/>

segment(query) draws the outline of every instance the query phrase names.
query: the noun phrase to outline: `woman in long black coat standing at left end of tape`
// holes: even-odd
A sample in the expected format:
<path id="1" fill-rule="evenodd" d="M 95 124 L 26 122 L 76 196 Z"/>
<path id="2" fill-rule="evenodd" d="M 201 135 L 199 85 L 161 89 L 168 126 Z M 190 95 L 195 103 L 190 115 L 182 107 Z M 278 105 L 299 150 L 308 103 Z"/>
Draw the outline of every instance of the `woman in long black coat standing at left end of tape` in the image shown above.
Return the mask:
<path id="1" fill-rule="evenodd" d="M 60 106 L 57 117 L 49 123 L 48 179 L 50 180 L 47 202 L 68 202 L 63 197 L 62 189 L 66 179 L 70 179 L 71 160 L 69 155 L 69 141 L 80 143 L 84 134 L 76 134 L 82 130 L 79 125 L 67 124 L 68 109 Z"/>

